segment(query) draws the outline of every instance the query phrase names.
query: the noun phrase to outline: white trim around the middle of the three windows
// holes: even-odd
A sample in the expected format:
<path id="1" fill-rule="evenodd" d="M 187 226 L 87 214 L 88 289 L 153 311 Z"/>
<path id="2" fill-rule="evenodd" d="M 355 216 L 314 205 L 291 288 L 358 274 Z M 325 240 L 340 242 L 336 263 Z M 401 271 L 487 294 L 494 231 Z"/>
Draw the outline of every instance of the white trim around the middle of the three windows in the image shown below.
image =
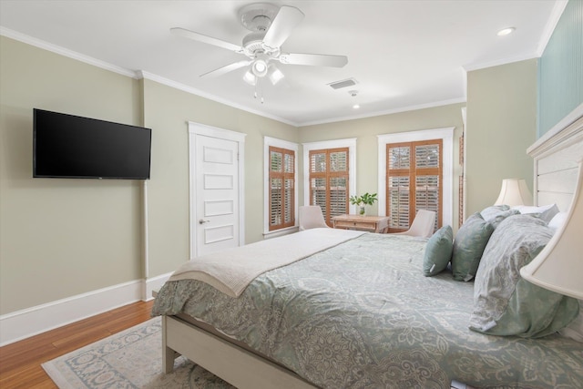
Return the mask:
<path id="1" fill-rule="evenodd" d="M 356 138 L 324 140 L 302 143 L 303 147 L 303 204 L 310 204 L 310 151 L 328 148 L 348 148 L 348 196 L 356 194 Z M 356 212 L 356 206 L 349 205 L 350 213 Z M 296 219 L 297 220 L 297 219 Z"/>

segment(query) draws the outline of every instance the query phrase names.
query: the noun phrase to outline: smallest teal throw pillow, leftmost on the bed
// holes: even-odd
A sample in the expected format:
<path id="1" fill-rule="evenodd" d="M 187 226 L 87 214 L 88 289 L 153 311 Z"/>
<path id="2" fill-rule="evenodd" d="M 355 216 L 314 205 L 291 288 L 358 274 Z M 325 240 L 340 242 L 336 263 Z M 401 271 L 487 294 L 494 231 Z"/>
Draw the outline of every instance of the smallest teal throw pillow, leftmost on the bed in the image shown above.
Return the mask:
<path id="1" fill-rule="evenodd" d="M 445 270 L 452 259 L 453 240 L 454 230 L 451 226 L 442 227 L 429 238 L 423 258 L 423 275 L 425 277 L 434 276 Z"/>

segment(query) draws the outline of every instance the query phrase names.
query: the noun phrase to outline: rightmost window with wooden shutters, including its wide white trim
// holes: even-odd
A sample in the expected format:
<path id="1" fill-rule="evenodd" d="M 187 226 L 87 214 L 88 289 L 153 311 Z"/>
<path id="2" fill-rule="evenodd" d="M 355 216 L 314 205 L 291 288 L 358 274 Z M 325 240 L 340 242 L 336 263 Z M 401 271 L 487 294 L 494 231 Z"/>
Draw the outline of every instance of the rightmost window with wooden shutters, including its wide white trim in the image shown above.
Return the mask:
<path id="1" fill-rule="evenodd" d="M 441 181 L 435 179 L 436 142 Z M 391 144 L 394 150 L 389 151 Z M 419 148 L 411 148 L 412 144 Z M 378 136 L 379 215 L 391 216 L 392 230 L 405 230 L 421 208 L 438 207 L 435 226 L 453 224 L 454 128 L 424 129 Z M 417 160 L 419 167 L 416 167 Z M 413 164 L 413 165 L 412 165 Z M 405 170 L 414 170 L 414 175 Z M 389 174 L 389 171 L 392 174 Z M 414 189 L 411 191 L 410 189 Z M 437 199 L 441 203 L 437 205 Z M 394 207 L 391 213 L 391 207 Z"/>

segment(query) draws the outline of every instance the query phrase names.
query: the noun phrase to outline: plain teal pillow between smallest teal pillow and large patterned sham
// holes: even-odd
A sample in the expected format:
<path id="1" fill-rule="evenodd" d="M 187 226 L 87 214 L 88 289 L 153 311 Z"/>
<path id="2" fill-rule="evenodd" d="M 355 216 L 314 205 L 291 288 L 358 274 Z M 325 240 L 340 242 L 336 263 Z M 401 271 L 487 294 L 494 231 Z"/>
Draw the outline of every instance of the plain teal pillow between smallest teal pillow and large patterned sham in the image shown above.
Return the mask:
<path id="1" fill-rule="evenodd" d="M 480 258 L 494 227 L 476 212 L 457 230 L 452 255 L 454 280 L 470 281 L 476 275 Z"/>

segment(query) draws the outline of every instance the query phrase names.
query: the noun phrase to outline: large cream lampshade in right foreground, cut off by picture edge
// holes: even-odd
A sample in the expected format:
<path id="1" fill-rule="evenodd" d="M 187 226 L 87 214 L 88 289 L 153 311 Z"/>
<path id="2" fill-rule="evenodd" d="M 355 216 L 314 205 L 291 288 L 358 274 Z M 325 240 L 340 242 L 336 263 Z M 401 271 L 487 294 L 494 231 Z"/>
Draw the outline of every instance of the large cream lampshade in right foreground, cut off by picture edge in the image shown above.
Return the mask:
<path id="1" fill-rule="evenodd" d="M 567 220 L 520 275 L 528 282 L 583 300 L 583 161 Z"/>

